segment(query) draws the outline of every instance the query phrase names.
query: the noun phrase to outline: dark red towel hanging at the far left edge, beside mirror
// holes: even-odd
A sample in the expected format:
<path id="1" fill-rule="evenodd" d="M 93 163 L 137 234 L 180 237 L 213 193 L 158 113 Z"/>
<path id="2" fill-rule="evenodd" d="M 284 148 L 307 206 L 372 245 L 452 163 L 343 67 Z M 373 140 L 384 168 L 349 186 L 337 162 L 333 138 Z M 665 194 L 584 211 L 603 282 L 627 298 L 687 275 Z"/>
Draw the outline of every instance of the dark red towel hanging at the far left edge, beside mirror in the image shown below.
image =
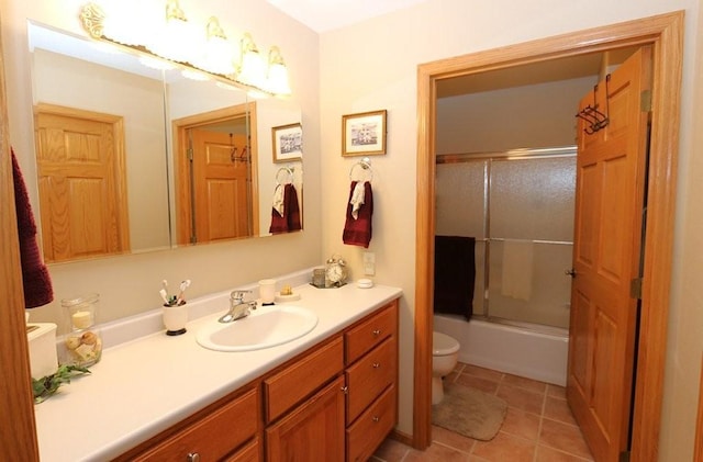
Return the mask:
<path id="1" fill-rule="evenodd" d="M 36 224 L 32 214 L 30 196 L 26 192 L 24 178 L 12 155 L 12 180 L 14 182 L 14 207 L 18 214 L 18 234 L 20 238 L 20 260 L 22 264 L 22 282 L 24 285 L 24 306 L 34 308 L 46 305 L 54 300 L 54 289 L 48 269 L 40 257 L 40 247 L 36 244 Z"/>

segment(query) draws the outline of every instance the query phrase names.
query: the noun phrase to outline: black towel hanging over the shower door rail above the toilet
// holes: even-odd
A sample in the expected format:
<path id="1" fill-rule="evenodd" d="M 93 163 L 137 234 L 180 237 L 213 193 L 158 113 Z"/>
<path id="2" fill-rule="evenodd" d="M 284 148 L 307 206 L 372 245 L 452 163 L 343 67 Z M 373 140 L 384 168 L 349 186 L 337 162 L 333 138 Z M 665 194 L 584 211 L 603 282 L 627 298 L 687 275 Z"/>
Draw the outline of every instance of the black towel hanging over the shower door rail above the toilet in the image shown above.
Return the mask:
<path id="1" fill-rule="evenodd" d="M 435 313 L 473 314 L 476 238 L 435 236 Z"/>

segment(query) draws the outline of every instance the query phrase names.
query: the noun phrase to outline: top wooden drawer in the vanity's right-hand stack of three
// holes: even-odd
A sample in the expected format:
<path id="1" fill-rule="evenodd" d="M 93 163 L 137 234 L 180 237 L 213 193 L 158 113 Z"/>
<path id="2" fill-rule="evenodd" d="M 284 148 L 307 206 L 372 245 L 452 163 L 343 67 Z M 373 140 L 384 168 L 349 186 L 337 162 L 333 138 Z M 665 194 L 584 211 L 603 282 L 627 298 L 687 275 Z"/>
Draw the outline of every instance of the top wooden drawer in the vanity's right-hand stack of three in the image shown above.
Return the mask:
<path id="1" fill-rule="evenodd" d="M 398 335 L 398 301 L 345 334 L 346 363 L 352 364 L 389 336 Z"/>

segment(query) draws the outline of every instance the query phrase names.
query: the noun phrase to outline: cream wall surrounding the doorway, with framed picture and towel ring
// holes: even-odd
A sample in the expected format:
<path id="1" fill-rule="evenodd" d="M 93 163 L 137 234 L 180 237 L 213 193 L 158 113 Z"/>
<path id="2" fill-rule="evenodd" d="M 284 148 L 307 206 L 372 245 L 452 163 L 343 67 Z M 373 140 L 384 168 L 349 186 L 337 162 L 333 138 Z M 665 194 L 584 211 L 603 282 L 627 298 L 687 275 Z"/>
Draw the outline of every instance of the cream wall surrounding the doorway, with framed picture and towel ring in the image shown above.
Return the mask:
<path id="1" fill-rule="evenodd" d="M 341 157 L 343 114 L 388 110 L 388 154 L 373 162 L 373 239 L 377 277 L 381 283 L 404 290 L 401 303 L 400 426 L 412 431 L 413 317 L 415 267 L 415 172 L 416 172 L 416 71 L 417 65 L 491 49 L 503 45 L 606 25 L 674 10 L 687 10 L 684 78 L 682 87 L 681 150 L 679 167 L 679 214 L 676 217 L 677 248 L 673 272 L 673 336 L 668 349 L 667 391 L 663 401 L 661 461 L 691 460 L 703 319 L 700 314 L 703 273 L 703 205 L 689 203 L 703 187 L 689 178 L 703 176 L 703 164 L 694 158 L 692 137 L 703 145 L 694 129 L 703 122 L 703 110 L 691 104 L 694 97 L 694 66 L 700 0 L 429 0 L 408 10 L 362 24 L 322 34 L 321 128 L 324 253 L 338 251 L 361 268 L 361 250 L 342 245 L 344 204 L 353 159 Z M 699 72 L 700 75 L 700 72 Z M 696 101 L 703 103 L 703 95 Z M 699 108 L 703 108 L 700 104 Z M 695 119 L 694 119 L 695 116 Z M 699 156 L 700 157 L 700 156 Z M 700 183 L 700 182 L 699 182 Z M 691 194 L 691 195 L 689 195 Z M 694 202 L 694 201 L 691 201 Z M 676 396 L 672 391 L 676 388 Z"/>

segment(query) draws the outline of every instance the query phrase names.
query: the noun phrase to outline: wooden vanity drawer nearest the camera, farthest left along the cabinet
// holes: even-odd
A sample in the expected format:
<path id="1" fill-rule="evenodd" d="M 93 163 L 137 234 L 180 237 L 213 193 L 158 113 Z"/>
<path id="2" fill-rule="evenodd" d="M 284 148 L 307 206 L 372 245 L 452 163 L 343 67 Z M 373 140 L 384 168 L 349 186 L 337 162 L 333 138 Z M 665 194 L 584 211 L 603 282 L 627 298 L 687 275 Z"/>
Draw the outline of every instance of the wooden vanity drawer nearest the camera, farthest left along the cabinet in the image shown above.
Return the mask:
<path id="1" fill-rule="evenodd" d="M 203 461 L 221 460 L 256 435 L 258 409 L 257 388 L 249 390 L 130 460 L 185 461 L 196 453 Z"/>

